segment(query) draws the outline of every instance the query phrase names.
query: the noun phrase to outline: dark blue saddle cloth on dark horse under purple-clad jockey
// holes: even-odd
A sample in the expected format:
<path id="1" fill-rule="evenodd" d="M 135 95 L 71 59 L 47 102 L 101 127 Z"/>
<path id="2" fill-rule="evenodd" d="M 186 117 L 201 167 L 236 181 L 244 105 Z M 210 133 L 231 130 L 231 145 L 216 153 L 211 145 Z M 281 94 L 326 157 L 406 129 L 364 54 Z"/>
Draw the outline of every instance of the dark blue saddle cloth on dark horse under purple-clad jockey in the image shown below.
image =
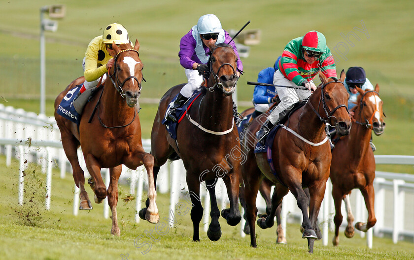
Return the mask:
<path id="1" fill-rule="evenodd" d="M 162 124 L 165 124 L 165 126 L 167 127 L 167 131 L 170 134 L 171 138 L 173 138 L 174 140 L 177 139 L 177 127 L 178 124 L 181 122 L 181 120 L 184 118 L 184 116 L 187 114 L 187 111 L 190 110 L 191 106 L 193 105 L 193 102 L 200 96 L 202 95 L 203 92 L 202 90 L 200 91 L 196 91 L 186 102 L 185 104 L 180 107 L 177 108 L 173 113 L 175 114 L 175 118 L 178 118 L 178 120 L 176 122 L 173 122 L 171 120 L 168 120 L 166 118 L 167 116 L 167 112 L 170 111 L 170 107 L 173 105 L 175 99 L 177 99 L 178 94 L 172 99 L 172 101 L 170 102 L 170 104 L 167 107 L 167 111 L 166 111 L 166 115 L 164 116 L 164 119 L 162 120 Z"/>

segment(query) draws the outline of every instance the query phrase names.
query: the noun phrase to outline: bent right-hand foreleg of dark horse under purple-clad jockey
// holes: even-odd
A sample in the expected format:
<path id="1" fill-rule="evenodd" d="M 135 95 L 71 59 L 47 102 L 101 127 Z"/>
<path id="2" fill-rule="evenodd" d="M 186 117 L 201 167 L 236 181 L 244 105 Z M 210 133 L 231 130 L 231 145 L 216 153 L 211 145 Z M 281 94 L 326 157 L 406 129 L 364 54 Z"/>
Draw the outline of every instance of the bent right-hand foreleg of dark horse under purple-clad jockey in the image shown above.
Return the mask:
<path id="1" fill-rule="evenodd" d="M 236 226 L 242 220 L 242 215 L 239 210 L 239 185 L 240 185 L 240 171 L 239 167 L 235 168 L 233 173 L 226 174 L 223 177 L 226 184 L 227 194 L 230 201 L 230 209 L 226 208 L 221 211 L 221 216 L 226 219 L 227 224 Z"/>

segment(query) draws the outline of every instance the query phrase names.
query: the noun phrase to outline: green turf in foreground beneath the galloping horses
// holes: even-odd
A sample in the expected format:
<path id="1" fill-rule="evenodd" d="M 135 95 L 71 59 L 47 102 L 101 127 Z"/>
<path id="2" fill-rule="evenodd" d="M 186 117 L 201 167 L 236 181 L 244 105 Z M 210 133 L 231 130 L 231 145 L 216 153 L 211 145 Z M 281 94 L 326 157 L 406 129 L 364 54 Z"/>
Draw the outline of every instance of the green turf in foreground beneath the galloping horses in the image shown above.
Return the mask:
<path id="1" fill-rule="evenodd" d="M 248 236 L 242 238 L 240 226 L 230 227 L 222 218 L 220 225 L 222 237 L 212 242 L 200 227 L 201 242 L 192 242 L 192 224 L 190 215 L 174 214 L 176 224 L 172 229 L 164 228 L 166 234 L 154 236 L 158 242 L 152 242 L 152 248 L 146 254 L 141 252 L 147 247 L 135 247 L 134 241 L 144 232 L 155 233 L 155 225 L 134 221 L 135 203 L 125 203 L 129 187 L 120 185 L 117 206 L 121 236 L 110 235 L 111 220 L 103 217 L 103 204 L 92 202 L 94 209 L 79 211 L 72 215 L 73 179 L 70 174 L 61 179 L 59 172 L 53 171 L 51 209 L 44 209 L 45 175 L 39 167 L 30 164 L 25 171 L 24 205 L 17 203 L 18 196 L 18 162 L 13 160 L 10 167 L 5 166 L 5 157 L 0 156 L 0 259 L 25 260 L 90 260 L 90 259 L 413 259 L 414 249 L 411 242 L 399 241 L 393 244 L 390 238 L 374 237 L 373 248 L 366 247 L 365 238 L 358 234 L 352 239 L 340 233 L 340 246 L 333 247 L 329 241 L 323 246 L 316 241 L 314 254 L 307 253 L 307 242 L 301 238 L 297 224 L 288 224 L 286 238 L 288 244 L 275 243 L 275 228 L 256 229 L 258 248 L 250 248 Z M 89 196 L 93 192 L 86 187 Z M 146 188 L 144 188 L 144 191 Z M 143 197 L 145 198 L 145 196 Z M 158 194 L 157 205 L 161 222 L 168 217 L 169 196 Z M 329 232 L 329 239 L 332 239 Z M 146 239 L 138 239 L 142 243 Z M 137 243 L 137 245 L 139 245 Z"/>

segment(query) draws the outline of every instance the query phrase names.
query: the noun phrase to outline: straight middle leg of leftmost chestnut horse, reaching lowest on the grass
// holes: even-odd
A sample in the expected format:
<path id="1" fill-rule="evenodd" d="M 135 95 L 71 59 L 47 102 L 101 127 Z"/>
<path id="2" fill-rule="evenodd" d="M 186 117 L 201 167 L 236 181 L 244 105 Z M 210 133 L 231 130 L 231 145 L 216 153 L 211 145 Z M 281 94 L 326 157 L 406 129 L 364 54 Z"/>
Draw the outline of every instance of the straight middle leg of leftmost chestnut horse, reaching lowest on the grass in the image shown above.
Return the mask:
<path id="1" fill-rule="evenodd" d="M 118 204 L 118 179 L 121 176 L 122 165 L 109 169 L 109 186 L 108 186 L 108 204 L 112 213 L 111 234 L 119 236 L 121 231 L 118 227 L 118 217 L 116 213 L 116 205 Z"/>

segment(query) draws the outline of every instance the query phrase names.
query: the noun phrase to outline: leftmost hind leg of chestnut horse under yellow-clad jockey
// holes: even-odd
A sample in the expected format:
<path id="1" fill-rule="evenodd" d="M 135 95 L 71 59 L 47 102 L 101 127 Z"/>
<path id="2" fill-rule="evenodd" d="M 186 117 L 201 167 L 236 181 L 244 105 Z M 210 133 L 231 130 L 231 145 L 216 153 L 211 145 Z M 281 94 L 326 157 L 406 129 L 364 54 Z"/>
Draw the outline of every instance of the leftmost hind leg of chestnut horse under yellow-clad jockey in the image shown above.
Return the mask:
<path id="1" fill-rule="evenodd" d="M 85 175 L 82 168 L 79 165 L 79 158 L 77 156 L 77 148 L 79 142 L 71 134 L 64 131 L 61 132 L 62 146 L 65 151 L 66 157 L 68 158 L 70 165 L 72 166 L 73 180 L 76 186 L 79 188 L 79 209 L 92 209 L 92 203 L 89 200 L 88 193 L 85 190 Z"/>

